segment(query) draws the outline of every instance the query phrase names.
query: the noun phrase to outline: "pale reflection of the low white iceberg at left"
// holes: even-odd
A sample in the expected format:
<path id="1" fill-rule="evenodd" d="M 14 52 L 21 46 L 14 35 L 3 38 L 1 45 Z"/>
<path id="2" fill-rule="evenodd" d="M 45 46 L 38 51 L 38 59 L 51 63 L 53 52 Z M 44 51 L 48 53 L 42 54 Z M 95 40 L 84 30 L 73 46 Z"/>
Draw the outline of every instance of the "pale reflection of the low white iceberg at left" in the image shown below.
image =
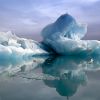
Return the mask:
<path id="1" fill-rule="evenodd" d="M 17 76 L 23 72 L 28 73 L 35 69 L 47 59 L 46 57 L 33 57 L 26 60 L 14 61 L 1 61 L 0 60 L 0 75 L 1 76 Z"/>

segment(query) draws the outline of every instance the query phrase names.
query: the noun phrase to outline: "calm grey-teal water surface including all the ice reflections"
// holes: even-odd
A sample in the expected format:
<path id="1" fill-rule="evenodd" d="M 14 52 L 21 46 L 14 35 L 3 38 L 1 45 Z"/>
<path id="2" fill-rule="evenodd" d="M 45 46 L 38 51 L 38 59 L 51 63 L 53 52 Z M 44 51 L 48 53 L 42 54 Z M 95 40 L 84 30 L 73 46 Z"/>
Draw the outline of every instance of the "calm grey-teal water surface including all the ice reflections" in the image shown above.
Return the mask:
<path id="1" fill-rule="evenodd" d="M 0 61 L 0 100 L 100 100 L 100 58 Z"/>

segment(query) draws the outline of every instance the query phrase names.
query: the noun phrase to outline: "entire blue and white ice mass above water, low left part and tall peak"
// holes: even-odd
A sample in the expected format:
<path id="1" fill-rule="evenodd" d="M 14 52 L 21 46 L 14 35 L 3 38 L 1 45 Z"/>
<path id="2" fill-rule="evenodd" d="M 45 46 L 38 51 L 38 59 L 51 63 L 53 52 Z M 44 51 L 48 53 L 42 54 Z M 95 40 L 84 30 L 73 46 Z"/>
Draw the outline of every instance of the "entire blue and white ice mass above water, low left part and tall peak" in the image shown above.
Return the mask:
<path id="1" fill-rule="evenodd" d="M 40 55 L 100 55 L 100 41 L 82 40 L 87 25 L 71 15 L 61 15 L 41 32 L 43 41 L 20 38 L 11 32 L 0 32 L 0 60 L 18 61 Z"/>

